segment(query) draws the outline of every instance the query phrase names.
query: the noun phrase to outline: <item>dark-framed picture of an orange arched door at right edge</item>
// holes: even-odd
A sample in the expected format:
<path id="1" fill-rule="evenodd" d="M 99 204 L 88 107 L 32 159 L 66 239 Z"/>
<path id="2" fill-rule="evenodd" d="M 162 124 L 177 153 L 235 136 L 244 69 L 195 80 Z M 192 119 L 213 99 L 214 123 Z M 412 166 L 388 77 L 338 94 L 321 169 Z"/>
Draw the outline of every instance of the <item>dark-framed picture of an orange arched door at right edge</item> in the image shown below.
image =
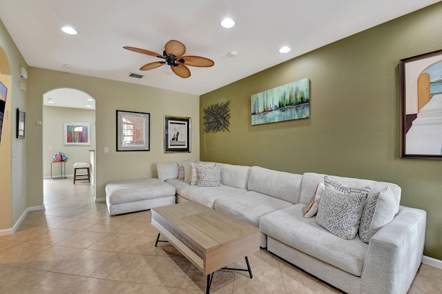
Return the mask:
<path id="1" fill-rule="evenodd" d="M 442 159 L 442 50 L 401 59 L 401 158 Z"/>

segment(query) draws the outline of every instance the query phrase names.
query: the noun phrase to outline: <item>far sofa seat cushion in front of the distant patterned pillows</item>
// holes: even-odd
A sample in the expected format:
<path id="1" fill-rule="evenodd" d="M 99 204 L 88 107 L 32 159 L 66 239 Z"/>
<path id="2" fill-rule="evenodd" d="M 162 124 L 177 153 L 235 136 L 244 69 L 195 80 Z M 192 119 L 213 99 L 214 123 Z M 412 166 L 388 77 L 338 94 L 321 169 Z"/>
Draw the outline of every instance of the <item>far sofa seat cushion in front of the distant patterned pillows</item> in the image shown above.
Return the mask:
<path id="1" fill-rule="evenodd" d="M 182 197 L 203 204 L 207 207 L 213 208 L 216 199 L 222 197 L 230 197 L 245 193 L 247 190 L 235 188 L 231 186 L 221 185 L 219 187 L 197 187 L 197 186 L 182 186 L 177 188 L 177 193 Z"/>

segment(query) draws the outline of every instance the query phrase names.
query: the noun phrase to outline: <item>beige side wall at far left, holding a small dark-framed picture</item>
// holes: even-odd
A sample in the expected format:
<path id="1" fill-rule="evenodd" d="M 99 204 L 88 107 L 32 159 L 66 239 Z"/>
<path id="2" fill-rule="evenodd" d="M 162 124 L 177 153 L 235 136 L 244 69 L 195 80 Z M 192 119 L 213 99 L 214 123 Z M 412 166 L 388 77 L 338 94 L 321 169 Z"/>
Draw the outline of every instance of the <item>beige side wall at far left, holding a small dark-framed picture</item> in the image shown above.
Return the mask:
<path id="1" fill-rule="evenodd" d="M 0 234 L 8 231 L 26 210 L 27 198 L 27 142 L 16 138 L 16 110 L 27 111 L 26 91 L 20 83 L 26 80 L 19 75 L 19 68 L 28 68 L 21 53 L 0 21 L 0 81 L 8 87 L 6 112 L 0 144 Z M 27 129 L 26 129 L 27 132 Z"/>

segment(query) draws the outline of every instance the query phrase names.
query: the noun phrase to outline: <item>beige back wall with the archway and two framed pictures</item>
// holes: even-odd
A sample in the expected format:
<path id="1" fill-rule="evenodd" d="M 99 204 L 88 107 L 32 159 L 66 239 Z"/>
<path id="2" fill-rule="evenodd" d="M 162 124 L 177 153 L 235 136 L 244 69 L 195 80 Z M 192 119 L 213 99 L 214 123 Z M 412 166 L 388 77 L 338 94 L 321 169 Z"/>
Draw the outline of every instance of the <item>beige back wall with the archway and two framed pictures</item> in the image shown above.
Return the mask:
<path id="1" fill-rule="evenodd" d="M 32 150 L 28 149 L 31 159 L 28 164 L 28 186 L 32 187 L 28 188 L 29 206 L 38 206 L 43 202 L 43 130 L 32 122 L 42 120 L 43 95 L 55 88 L 76 88 L 95 98 L 97 198 L 105 197 L 104 186 L 107 182 L 156 177 L 155 164 L 158 161 L 199 159 L 200 101 L 197 95 L 32 67 L 28 80 L 29 110 L 26 115 L 31 121 L 28 131 L 32 137 L 29 140 L 35 146 Z M 116 152 L 116 110 L 151 114 L 150 151 Z M 164 115 L 191 117 L 196 122 L 192 125 L 191 153 L 164 153 Z M 109 148 L 108 153 L 104 153 L 104 147 Z"/>

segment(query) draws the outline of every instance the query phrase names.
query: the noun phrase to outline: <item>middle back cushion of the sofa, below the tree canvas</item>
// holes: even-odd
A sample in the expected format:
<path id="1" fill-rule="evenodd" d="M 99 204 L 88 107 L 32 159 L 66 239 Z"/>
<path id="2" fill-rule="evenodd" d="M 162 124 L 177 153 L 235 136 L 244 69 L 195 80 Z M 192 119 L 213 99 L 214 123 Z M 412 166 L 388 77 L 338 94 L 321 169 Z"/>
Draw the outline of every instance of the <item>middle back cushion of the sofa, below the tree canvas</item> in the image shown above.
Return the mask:
<path id="1" fill-rule="evenodd" d="M 253 190 L 286 200 L 293 204 L 298 204 L 301 182 L 302 175 L 269 170 L 267 168 L 261 168 L 260 166 L 252 166 L 250 169 L 249 182 L 247 183 L 247 190 Z"/>

